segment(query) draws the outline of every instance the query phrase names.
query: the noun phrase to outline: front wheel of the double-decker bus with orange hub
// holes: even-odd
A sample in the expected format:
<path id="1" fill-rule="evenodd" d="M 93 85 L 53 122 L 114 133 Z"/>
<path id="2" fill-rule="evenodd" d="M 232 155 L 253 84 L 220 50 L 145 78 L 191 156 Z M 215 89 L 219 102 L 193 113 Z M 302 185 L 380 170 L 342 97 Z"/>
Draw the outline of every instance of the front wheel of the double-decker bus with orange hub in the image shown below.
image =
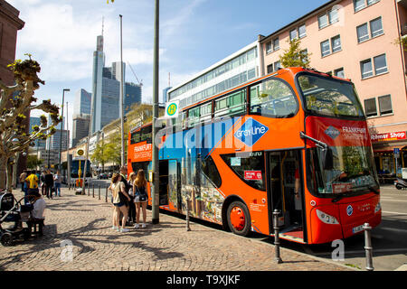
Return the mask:
<path id="1" fill-rule="evenodd" d="M 246 205 L 240 200 L 233 201 L 227 212 L 228 225 L 232 232 L 240 236 L 248 236 L 251 232 L 251 215 Z"/>

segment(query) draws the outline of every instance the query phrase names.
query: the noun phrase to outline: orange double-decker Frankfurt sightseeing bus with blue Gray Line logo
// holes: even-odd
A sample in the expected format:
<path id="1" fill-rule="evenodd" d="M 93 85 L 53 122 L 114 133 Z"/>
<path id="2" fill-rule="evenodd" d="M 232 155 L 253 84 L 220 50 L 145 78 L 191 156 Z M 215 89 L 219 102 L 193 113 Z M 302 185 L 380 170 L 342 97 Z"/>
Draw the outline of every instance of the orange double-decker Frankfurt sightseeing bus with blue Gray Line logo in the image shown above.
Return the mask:
<path id="1" fill-rule="evenodd" d="M 129 133 L 129 172 L 151 172 L 151 131 Z M 273 236 L 279 210 L 280 238 L 307 244 L 381 222 L 372 144 L 349 80 L 282 69 L 182 108 L 155 143 L 161 209 L 185 214 L 188 205 L 192 217 L 242 236 Z"/>

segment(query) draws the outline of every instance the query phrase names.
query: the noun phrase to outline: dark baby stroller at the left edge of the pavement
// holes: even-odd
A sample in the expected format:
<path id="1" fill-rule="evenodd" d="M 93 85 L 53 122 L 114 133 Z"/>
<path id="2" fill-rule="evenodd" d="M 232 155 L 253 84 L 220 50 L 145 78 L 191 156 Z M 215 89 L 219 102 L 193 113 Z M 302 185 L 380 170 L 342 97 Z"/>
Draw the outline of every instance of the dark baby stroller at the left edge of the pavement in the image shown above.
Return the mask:
<path id="1" fill-rule="evenodd" d="M 3 246 L 13 246 L 15 239 L 27 240 L 31 236 L 29 228 L 23 228 L 23 222 L 30 218 L 32 205 L 22 204 L 24 198 L 16 200 L 11 192 L 0 191 L 0 242 Z M 4 222 L 14 222 L 14 226 L 3 228 Z"/>

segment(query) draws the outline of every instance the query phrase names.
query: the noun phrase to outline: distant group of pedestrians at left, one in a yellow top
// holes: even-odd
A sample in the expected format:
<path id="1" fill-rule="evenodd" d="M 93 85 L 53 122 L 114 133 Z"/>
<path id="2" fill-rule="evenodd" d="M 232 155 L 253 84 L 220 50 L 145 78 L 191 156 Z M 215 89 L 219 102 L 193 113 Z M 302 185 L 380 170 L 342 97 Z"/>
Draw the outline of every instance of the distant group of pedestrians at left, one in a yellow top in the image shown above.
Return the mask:
<path id="1" fill-rule="evenodd" d="M 35 175 L 37 180 L 37 187 L 31 188 L 30 182 L 25 182 L 27 177 L 31 176 L 31 179 L 34 179 L 33 175 Z M 62 182 L 62 175 L 60 171 L 52 173 L 51 170 L 43 170 L 43 172 L 39 171 L 24 171 L 20 175 L 20 182 L 21 182 L 21 191 L 24 191 L 24 195 L 28 194 L 30 189 L 37 189 L 41 188 L 41 192 L 43 196 L 47 196 L 48 199 L 52 199 L 52 193 L 55 192 L 55 197 L 61 197 L 61 182 Z M 39 184 L 38 184 L 39 182 Z"/>

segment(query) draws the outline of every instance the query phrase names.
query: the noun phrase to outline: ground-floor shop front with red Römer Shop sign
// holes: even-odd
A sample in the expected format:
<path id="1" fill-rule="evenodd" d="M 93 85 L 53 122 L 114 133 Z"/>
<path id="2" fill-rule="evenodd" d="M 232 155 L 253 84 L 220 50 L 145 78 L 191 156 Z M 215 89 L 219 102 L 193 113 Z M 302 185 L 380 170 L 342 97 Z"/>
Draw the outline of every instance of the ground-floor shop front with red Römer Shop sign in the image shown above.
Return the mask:
<path id="1" fill-rule="evenodd" d="M 402 177 L 402 168 L 407 167 L 406 135 L 405 131 L 371 135 L 380 182 L 393 182 L 396 175 Z"/>

